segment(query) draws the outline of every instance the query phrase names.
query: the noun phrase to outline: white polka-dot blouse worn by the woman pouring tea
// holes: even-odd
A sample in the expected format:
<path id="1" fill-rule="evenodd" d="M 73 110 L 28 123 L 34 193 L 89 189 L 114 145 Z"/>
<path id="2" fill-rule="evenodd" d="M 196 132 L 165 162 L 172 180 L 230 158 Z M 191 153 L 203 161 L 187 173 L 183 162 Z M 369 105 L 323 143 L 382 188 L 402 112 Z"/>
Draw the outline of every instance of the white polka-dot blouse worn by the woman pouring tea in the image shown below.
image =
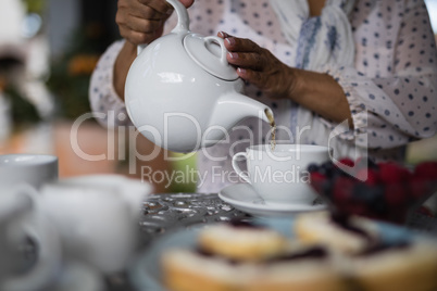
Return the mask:
<path id="1" fill-rule="evenodd" d="M 296 43 L 283 37 L 267 0 L 196 0 L 189 16 L 192 31 L 216 35 L 223 30 L 252 39 L 286 64 L 295 58 Z M 166 31 L 176 21 L 173 15 Z M 354 65 L 326 66 L 320 73 L 329 74 L 342 87 L 354 127 L 333 135 L 339 128 L 337 124 L 307 111 L 299 118 L 304 124 L 298 126 L 310 129 L 304 130 L 300 142 L 326 146 L 329 140 L 339 156 L 357 157 L 354 154 L 367 152 L 375 160 L 402 161 L 408 142 L 432 137 L 437 128 L 437 50 L 426 7 L 423 0 L 358 0 L 350 22 Z M 99 61 L 91 77 L 90 102 L 95 112 L 104 113 L 102 116 L 114 111 L 117 124 L 129 124 L 112 85 L 113 65 L 122 46 L 123 40 L 114 42 Z M 277 124 L 296 126 L 288 100 L 267 99 L 250 84 L 246 94 L 267 104 Z M 248 118 L 230 130 L 229 141 L 201 150 L 198 167 L 205 176 L 200 179 L 200 190 L 217 191 L 233 182 L 230 156 L 250 144 L 266 142 L 269 130 L 267 124 Z M 278 139 L 294 142 L 280 130 Z"/>

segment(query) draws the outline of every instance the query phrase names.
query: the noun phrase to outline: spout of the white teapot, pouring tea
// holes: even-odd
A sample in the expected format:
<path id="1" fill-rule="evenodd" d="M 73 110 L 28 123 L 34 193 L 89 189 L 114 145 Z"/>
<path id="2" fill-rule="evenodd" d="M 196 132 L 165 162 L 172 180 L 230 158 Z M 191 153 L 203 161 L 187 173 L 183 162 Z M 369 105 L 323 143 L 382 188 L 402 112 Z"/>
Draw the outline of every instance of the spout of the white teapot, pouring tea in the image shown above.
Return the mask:
<path id="1" fill-rule="evenodd" d="M 229 129 L 232 126 L 247 117 L 258 117 L 272 124 L 272 110 L 247 96 L 228 92 L 220 97 L 210 119 L 210 126 L 223 126 Z"/>

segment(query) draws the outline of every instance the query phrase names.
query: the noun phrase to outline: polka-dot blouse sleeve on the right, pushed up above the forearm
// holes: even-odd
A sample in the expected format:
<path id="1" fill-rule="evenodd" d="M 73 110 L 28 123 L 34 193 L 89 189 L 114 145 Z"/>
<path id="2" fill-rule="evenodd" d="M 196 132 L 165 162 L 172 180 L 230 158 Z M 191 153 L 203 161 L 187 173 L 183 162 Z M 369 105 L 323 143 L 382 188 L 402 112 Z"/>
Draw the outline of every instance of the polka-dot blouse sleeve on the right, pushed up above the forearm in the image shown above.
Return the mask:
<path id="1" fill-rule="evenodd" d="M 325 71 L 344 88 L 350 104 L 354 129 L 340 138 L 351 140 L 366 132 L 366 144 L 361 146 L 371 149 L 396 148 L 436 134 L 437 51 L 427 10 L 423 1 L 409 1 L 398 16 L 397 42 L 379 48 L 392 59 L 384 71 L 376 69 L 373 77 L 355 67 Z M 379 58 L 376 51 L 364 65 L 378 67 Z"/>

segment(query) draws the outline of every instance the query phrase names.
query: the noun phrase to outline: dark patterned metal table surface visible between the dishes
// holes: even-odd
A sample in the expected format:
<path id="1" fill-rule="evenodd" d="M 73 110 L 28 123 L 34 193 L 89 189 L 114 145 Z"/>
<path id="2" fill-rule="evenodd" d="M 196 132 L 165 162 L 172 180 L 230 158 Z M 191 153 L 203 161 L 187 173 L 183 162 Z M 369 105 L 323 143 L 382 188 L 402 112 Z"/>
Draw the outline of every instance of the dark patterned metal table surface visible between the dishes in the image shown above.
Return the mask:
<path id="1" fill-rule="evenodd" d="M 226 222 L 234 218 L 250 220 L 252 216 L 222 201 L 216 193 L 167 193 L 151 194 L 143 202 L 140 219 L 141 245 L 174 228 L 198 224 Z M 405 227 L 437 237 L 437 218 L 414 213 Z M 107 279 L 108 291 L 130 291 L 125 275 Z"/>

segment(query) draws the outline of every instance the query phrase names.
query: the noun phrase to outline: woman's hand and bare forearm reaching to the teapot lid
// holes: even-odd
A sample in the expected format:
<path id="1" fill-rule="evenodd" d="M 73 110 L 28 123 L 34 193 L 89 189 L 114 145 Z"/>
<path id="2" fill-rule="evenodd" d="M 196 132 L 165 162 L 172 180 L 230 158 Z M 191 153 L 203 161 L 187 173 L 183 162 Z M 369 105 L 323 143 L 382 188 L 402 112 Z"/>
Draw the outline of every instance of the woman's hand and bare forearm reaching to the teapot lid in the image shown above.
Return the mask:
<path id="1" fill-rule="evenodd" d="M 342 88 L 329 75 L 290 67 L 253 41 L 218 33 L 229 51 L 227 61 L 237 74 L 255 85 L 267 97 L 288 98 L 323 117 L 353 127 L 349 103 Z"/>

